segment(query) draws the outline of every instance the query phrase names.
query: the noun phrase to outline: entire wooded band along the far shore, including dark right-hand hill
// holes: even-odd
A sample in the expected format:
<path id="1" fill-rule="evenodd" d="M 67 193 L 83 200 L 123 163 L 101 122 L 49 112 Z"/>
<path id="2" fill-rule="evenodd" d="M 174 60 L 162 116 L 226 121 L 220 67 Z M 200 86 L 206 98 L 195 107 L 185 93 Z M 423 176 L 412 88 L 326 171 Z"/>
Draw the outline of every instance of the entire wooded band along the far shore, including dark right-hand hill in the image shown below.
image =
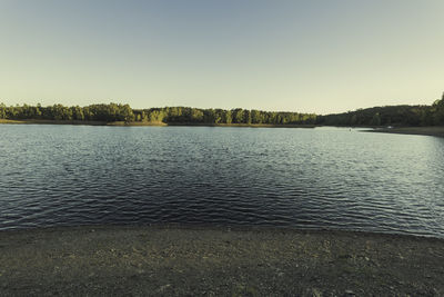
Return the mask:
<path id="1" fill-rule="evenodd" d="M 164 107 L 132 109 L 129 105 L 91 105 L 87 107 L 10 106 L 0 103 L 0 119 L 67 120 L 101 122 L 163 123 L 262 123 L 262 125 L 325 125 L 325 126 L 441 126 L 444 125 L 444 95 L 432 106 L 385 106 L 343 113 L 276 112 L 248 109 L 200 109 Z"/>

